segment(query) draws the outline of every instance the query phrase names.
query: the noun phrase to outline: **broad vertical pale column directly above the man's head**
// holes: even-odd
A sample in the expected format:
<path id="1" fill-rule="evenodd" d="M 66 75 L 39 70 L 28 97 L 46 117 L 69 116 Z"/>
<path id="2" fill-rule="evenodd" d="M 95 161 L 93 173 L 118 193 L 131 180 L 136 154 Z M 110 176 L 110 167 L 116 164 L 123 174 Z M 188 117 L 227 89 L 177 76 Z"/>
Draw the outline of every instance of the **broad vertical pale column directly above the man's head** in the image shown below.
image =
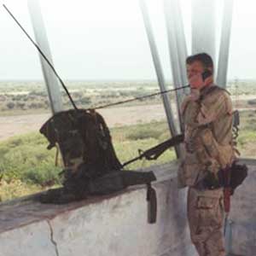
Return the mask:
<path id="1" fill-rule="evenodd" d="M 216 1 L 192 0 L 192 54 L 205 52 L 216 62 Z M 215 65 L 214 65 L 215 66 Z"/>

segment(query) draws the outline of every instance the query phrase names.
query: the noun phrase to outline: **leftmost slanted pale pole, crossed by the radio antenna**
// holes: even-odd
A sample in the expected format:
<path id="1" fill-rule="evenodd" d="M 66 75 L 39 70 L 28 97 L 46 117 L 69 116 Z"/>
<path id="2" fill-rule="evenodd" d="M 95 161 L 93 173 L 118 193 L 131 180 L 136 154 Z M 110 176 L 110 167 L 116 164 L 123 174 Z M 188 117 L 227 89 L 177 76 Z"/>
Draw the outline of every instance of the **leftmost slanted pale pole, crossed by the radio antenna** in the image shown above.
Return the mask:
<path id="1" fill-rule="evenodd" d="M 28 9 L 30 11 L 32 26 L 35 34 L 35 38 L 38 46 L 44 52 L 44 55 L 48 58 L 50 63 L 53 65 L 52 57 L 49 49 L 49 42 L 47 39 L 46 30 L 44 27 L 44 20 L 41 14 L 40 6 L 38 0 L 28 0 Z M 62 110 L 61 102 L 61 90 L 58 79 L 53 73 L 49 64 L 44 60 L 44 58 L 39 55 L 41 61 L 41 67 L 44 74 L 44 81 L 47 86 L 49 102 L 51 106 L 52 113 L 57 113 Z"/>

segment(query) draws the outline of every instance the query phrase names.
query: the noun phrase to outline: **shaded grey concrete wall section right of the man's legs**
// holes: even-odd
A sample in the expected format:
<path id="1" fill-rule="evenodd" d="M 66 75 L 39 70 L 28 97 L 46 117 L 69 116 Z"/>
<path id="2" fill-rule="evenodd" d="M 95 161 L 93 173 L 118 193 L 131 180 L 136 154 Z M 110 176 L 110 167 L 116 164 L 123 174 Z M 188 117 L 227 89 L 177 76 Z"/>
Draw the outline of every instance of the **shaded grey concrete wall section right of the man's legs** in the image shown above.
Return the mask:
<path id="1" fill-rule="evenodd" d="M 256 255 L 256 160 L 243 160 L 248 177 L 232 196 L 227 247 L 236 255 Z"/>

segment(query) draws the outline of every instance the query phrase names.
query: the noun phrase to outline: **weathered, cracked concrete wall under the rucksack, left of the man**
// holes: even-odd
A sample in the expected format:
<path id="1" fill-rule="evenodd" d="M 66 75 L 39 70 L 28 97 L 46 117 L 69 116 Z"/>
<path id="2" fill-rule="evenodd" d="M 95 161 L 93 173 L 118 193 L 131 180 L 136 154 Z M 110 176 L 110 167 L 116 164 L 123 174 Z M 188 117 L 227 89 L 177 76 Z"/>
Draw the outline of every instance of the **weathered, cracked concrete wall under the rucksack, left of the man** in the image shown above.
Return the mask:
<path id="1" fill-rule="evenodd" d="M 2 204 L 0 256 L 194 256 L 186 191 L 177 190 L 176 169 L 155 169 L 156 224 L 147 222 L 144 186 L 65 206 L 42 205 L 32 198 Z"/>

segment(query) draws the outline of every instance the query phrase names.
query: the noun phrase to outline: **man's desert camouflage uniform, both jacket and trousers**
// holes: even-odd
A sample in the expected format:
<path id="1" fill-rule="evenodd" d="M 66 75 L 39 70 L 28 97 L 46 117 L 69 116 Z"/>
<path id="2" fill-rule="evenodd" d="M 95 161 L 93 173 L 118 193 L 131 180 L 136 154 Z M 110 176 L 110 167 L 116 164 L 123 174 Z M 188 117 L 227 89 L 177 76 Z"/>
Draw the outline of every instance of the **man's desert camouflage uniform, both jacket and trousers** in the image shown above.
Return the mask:
<path id="1" fill-rule="evenodd" d="M 220 168 L 234 160 L 232 104 L 227 91 L 214 84 L 201 90 L 197 100 L 187 96 L 182 105 L 185 128 L 184 155 L 178 177 L 189 186 L 190 236 L 200 256 L 224 253 L 223 189 L 202 189 L 208 172 L 217 177 Z"/>

